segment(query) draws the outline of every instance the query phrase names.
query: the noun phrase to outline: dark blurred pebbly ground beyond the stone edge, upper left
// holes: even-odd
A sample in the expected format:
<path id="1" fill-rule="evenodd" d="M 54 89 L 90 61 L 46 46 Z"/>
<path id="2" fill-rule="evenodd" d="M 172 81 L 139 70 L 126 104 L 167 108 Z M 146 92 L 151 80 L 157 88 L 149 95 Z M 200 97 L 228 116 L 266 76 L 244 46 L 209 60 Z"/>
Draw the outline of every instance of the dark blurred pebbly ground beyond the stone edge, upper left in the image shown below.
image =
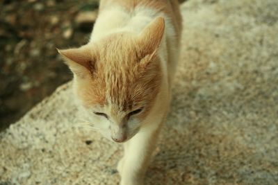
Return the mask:
<path id="1" fill-rule="evenodd" d="M 98 0 L 0 1 L 0 131 L 72 78 L 56 48 L 88 42 L 98 6 Z"/>

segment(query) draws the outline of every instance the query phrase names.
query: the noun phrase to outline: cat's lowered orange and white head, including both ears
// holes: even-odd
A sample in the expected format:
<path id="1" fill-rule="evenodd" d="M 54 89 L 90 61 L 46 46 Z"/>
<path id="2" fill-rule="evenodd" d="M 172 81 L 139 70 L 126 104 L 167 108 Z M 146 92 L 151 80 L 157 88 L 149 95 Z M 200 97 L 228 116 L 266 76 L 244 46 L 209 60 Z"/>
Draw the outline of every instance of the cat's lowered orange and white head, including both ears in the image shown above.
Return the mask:
<path id="1" fill-rule="evenodd" d="M 157 51 L 164 26 L 157 17 L 138 35 L 115 33 L 59 51 L 74 73 L 74 91 L 87 121 L 106 138 L 127 141 L 147 123 L 161 86 Z"/>

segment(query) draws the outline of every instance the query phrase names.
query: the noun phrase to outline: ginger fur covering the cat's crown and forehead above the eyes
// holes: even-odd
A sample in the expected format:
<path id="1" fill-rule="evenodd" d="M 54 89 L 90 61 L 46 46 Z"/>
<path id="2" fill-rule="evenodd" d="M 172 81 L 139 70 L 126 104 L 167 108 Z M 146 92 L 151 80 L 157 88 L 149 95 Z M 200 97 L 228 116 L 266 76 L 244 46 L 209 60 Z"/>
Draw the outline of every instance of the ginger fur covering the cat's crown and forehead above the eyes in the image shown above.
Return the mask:
<path id="1" fill-rule="evenodd" d="M 161 80 L 160 69 L 156 65 L 147 71 L 140 68 L 138 47 L 133 37 L 124 34 L 108 37 L 97 45 L 91 85 L 91 97 L 97 103 L 127 111 L 152 101 Z"/>

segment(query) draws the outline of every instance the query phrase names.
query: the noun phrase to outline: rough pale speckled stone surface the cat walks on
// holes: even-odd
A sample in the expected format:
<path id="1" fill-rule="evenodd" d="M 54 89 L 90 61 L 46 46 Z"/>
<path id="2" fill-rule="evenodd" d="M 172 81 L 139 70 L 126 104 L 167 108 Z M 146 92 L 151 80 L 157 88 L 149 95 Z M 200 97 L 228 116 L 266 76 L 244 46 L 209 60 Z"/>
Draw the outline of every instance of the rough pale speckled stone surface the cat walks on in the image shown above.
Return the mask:
<path id="1" fill-rule="evenodd" d="M 278 182 L 278 2 L 187 1 L 146 184 Z M 79 127 L 71 84 L 0 133 L 0 184 L 116 184 L 122 146 Z"/>

